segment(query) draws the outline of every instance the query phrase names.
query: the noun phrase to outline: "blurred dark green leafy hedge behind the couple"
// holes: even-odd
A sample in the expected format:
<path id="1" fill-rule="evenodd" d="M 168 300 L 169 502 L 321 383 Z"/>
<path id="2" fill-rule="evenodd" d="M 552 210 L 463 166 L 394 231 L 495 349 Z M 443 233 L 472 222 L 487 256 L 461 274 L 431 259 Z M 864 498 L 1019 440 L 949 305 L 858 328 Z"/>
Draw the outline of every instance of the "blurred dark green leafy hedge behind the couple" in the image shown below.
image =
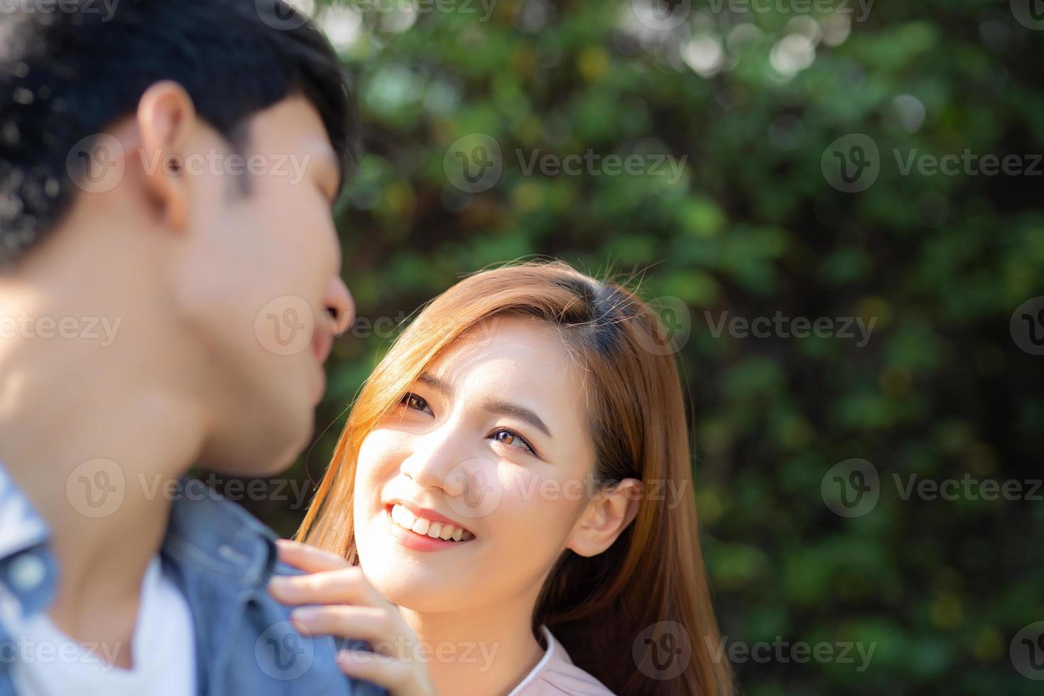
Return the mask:
<path id="1" fill-rule="evenodd" d="M 862 672 L 737 664 L 743 690 L 1038 694 L 1009 644 L 1044 620 L 1044 503 L 901 494 L 915 474 L 1041 477 L 1044 358 L 1019 349 L 1009 320 L 1044 294 L 1044 166 L 903 167 L 911 152 L 1044 151 L 1044 32 L 1006 2 L 882 2 L 862 21 L 857 3 L 823 4 L 853 14 L 716 2 L 656 31 L 637 22 L 639 0 L 502 0 L 484 22 L 481 3 L 462 0 L 413 18 L 321 3 L 356 76 L 365 150 L 338 213 L 343 275 L 373 321 L 530 255 L 636 271 L 643 293 L 689 310 L 679 357 L 722 633 L 876 646 Z M 809 46 L 814 61 L 791 70 Z M 880 172 L 846 193 L 824 152 L 853 133 L 874 141 Z M 476 193 L 446 167 L 470 134 L 496 141 L 503 168 Z M 535 153 L 588 151 L 686 159 L 677 181 L 526 173 Z M 874 323 L 857 345 L 854 328 L 853 339 L 715 333 L 723 313 Z M 357 334 L 337 343 L 296 475 L 318 480 L 390 340 Z M 850 458 L 876 466 L 881 494 L 846 519 L 821 483 Z M 260 512 L 290 533 L 304 510 Z"/>

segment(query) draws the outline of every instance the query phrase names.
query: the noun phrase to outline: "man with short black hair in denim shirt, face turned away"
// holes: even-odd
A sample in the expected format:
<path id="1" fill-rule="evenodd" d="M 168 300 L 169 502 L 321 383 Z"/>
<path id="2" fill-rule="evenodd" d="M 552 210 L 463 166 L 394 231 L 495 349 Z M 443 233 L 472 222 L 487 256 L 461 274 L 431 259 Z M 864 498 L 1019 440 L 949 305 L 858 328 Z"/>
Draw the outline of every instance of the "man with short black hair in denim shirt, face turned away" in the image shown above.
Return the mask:
<path id="1" fill-rule="evenodd" d="M 311 438 L 354 313 L 336 55 L 282 0 L 20 7 L 0 14 L 0 695 L 374 693 L 267 594 L 270 532 L 180 482 L 270 476 Z"/>

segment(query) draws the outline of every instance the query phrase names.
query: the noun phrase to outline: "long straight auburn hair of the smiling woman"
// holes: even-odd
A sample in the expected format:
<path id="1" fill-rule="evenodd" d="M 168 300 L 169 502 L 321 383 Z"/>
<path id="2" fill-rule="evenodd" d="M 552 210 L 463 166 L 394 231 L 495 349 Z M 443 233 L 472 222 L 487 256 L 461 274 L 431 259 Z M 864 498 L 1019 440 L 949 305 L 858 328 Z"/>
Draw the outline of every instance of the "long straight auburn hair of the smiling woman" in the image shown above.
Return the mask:
<path id="1" fill-rule="evenodd" d="M 645 491 L 634 523 L 606 552 L 563 553 L 541 591 L 533 627 L 546 624 L 573 662 L 614 693 L 731 695 L 728 663 L 715 658 L 719 635 L 669 341 L 632 292 L 567 264 L 485 270 L 420 313 L 359 393 L 298 538 L 358 562 L 352 501 L 362 440 L 460 334 L 502 315 L 536 317 L 561 331 L 585 375 L 595 480 L 636 478 Z"/>

